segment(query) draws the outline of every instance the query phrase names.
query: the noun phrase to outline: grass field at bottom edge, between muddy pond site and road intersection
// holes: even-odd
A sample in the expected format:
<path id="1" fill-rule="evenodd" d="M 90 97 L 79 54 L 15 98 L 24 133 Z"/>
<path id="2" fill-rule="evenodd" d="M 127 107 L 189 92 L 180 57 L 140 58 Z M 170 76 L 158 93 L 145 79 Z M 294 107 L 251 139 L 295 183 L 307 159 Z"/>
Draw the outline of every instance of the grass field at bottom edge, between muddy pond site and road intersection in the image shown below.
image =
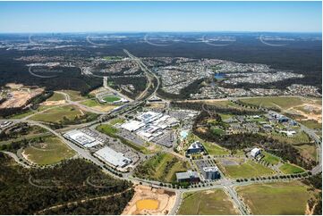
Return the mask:
<path id="1" fill-rule="evenodd" d="M 222 189 L 215 189 L 184 193 L 177 214 L 230 215 L 239 214 L 239 211 Z"/>

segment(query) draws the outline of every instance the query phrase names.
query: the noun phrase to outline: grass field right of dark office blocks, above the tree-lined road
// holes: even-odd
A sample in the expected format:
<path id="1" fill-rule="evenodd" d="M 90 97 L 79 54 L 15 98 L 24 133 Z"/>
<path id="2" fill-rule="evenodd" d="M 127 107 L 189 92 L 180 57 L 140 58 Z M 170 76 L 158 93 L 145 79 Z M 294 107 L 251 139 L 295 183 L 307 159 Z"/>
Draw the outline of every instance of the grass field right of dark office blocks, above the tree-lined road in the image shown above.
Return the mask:
<path id="1" fill-rule="evenodd" d="M 233 179 L 268 176 L 275 173 L 274 170 L 251 160 L 242 162 L 239 165 L 223 165 L 223 163 L 220 163 L 219 168 L 224 172 L 225 176 Z"/>

